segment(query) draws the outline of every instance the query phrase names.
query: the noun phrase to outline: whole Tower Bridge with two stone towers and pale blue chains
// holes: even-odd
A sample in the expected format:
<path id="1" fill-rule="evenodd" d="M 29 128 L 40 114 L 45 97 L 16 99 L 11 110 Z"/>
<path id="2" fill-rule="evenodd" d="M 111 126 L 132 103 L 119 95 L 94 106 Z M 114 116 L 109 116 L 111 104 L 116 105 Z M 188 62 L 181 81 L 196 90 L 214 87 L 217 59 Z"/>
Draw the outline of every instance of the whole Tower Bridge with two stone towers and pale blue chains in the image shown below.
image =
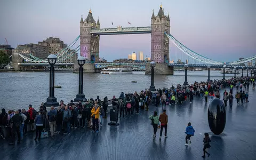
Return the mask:
<path id="1" fill-rule="evenodd" d="M 72 42 L 66 49 L 57 53 L 56 66 L 70 66 L 74 65 L 74 69 L 78 68 L 75 61 L 74 54 L 78 53 L 78 56 L 83 56 L 87 60 L 84 67 L 84 72 L 96 73 L 99 69 L 113 66 L 130 66 L 146 69 L 146 74 L 150 74 L 151 68 L 149 63 L 99 63 L 99 46 L 101 35 L 122 35 L 122 34 L 151 34 L 151 60 L 156 62 L 154 69 L 155 74 L 159 75 L 172 75 L 173 67 L 183 66 L 177 63 L 169 63 L 170 56 L 170 42 L 177 47 L 181 54 L 187 55 L 189 58 L 196 60 L 203 64 L 188 64 L 190 67 L 212 66 L 214 68 L 222 68 L 223 65 L 227 65 L 227 68 L 233 68 L 239 66 L 241 63 L 251 62 L 256 59 L 256 55 L 253 57 L 245 58 L 234 62 L 219 62 L 198 54 L 188 47 L 179 42 L 173 35 L 170 34 L 170 17 L 169 14 L 165 15 L 162 5 L 159 7 L 158 13 L 155 15 L 154 10 L 151 15 L 151 26 L 145 27 L 122 27 L 116 28 L 100 28 L 99 19 L 97 22 L 94 20 L 92 11 L 90 10 L 87 17 L 80 20 L 80 35 Z M 80 39 L 80 41 L 78 41 Z M 79 45 L 70 52 L 71 47 L 74 47 L 76 43 Z M 68 61 L 71 58 L 74 60 Z M 46 66 L 48 65 L 47 59 L 42 60 L 34 57 L 31 54 L 23 54 L 18 52 L 12 53 L 12 62 L 14 68 L 30 67 L 30 66 Z M 246 66 L 246 68 L 253 69 L 253 66 Z"/>

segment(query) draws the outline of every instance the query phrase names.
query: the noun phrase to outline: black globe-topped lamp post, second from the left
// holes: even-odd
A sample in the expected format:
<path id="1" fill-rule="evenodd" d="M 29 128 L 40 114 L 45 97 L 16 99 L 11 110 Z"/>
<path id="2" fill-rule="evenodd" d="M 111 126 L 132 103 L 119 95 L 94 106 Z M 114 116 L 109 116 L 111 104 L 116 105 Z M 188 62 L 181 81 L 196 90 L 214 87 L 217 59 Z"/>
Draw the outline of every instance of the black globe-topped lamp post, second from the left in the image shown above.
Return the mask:
<path id="1" fill-rule="evenodd" d="M 74 99 L 75 102 L 81 101 L 84 102 L 86 101 L 86 98 L 84 96 L 83 93 L 83 74 L 84 74 L 84 70 L 83 70 L 83 66 L 85 63 L 85 58 L 84 57 L 78 57 L 77 59 L 78 65 L 79 67 L 79 89 L 78 89 L 78 94 L 76 94 L 76 98 Z"/>

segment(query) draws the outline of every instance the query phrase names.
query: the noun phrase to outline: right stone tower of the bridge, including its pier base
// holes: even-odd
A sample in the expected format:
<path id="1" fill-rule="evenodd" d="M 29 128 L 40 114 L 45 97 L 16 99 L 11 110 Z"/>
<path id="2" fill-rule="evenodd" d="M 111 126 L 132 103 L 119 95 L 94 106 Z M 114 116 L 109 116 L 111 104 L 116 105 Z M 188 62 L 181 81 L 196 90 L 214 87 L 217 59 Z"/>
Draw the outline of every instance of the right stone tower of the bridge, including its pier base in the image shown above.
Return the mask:
<path id="1" fill-rule="evenodd" d="M 156 62 L 154 73 L 156 75 L 173 75 L 173 67 L 169 63 L 169 38 L 164 33 L 170 34 L 170 17 L 164 15 L 163 6 L 160 6 L 155 16 L 151 16 L 151 60 Z M 149 64 L 146 65 L 146 74 L 151 74 Z"/>

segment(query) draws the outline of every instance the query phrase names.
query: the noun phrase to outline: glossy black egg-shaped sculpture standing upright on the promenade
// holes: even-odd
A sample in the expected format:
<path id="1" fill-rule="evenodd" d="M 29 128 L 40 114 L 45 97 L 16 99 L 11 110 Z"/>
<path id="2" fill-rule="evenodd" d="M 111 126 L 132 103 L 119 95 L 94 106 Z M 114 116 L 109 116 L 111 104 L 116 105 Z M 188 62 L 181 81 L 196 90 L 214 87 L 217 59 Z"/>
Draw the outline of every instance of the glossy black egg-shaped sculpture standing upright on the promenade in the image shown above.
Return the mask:
<path id="1" fill-rule="evenodd" d="M 226 108 L 224 103 L 215 98 L 211 101 L 208 108 L 208 123 L 214 134 L 220 134 L 226 125 Z"/>

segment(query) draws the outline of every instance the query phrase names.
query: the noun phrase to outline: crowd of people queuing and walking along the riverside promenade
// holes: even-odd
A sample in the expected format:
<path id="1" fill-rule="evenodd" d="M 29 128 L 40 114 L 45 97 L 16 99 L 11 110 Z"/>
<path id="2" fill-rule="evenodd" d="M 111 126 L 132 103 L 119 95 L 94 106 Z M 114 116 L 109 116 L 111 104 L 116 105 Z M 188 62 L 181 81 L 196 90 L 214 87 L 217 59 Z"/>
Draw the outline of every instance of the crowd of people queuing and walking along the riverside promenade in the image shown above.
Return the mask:
<path id="1" fill-rule="evenodd" d="M 56 134 L 70 134 L 71 129 L 77 129 L 78 127 L 90 128 L 91 132 L 99 133 L 99 126 L 102 126 L 102 119 L 107 118 L 108 106 L 111 104 L 114 109 L 119 113 L 119 117 L 124 117 L 127 115 L 138 114 L 140 110 L 148 111 L 149 105 L 156 106 L 162 105 L 163 114 L 159 117 L 157 116 L 157 111 L 154 112 L 149 118 L 151 119 L 151 124 L 153 125 L 153 138 L 156 137 L 157 129 L 160 128 L 160 137 L 162 137 L 163 129 L 165 129 L 165 138 L 167 138 L 167 115 L 165 107 L 167 105 L 179 105 L 189 99 L 189 102 L 193 102 L 194 96 L 202 98 L 204 97 L 205 102 L 207 102 L 208 97 L 211 100 L 216 98 L 221 98 L 219 90 L 229 87 L 229 93 L 227 90 L 223 92 L 222 100 L 227 106 L 227 101 L 229 101 L 229 106 L 233 106 L 233 89 L 236 87 L 235 98 L 237 104 L 244 105 L 248 102 L 249 94 L 246 92 L 249 90 L 249 86 L 252 84 L 253 89 L 255 89 L 254 77 L 237 77 L 230 79 L 221 79 L 207 82 L 195 82 L 191 85 L 180 85 L 177 87 L 173 85 L 170 89 L 163 88 L 158 89 L 156 92 L 151 92 L 147 89 L 141 91 L 139 94 L 137 92 L 124 94 L 124 92 L 119 95 L 117 99 L 115 95 L 111 100 L 108 97 L 101 100 L 99 96 L 97 99 L 90 99 L 86 102 L 79 101 L 74 103 L 71 100 L 67 105 L 63 101 L 60 101 L 60 105 L 57 109 L 53 106 L 50 111 L 46 110 L 44 103 L 36 111 L 33 106 L 29 105 L 28 110 L 6 110 L 3 108 L 0 114 L 0 124 L 1 124 L 1 137 L 5 139 L 5 136 L 10 138 L 9 145 L 14 145 L 15 135 L 18 137 L 18 143 L 23 140 L 23 136 L 27 135 L 28 132 L 35 132 L 35 141 L 40 140 L 42 136 L 48 135 L 49 137 L 54 137 Z M 28 127 L 29 126 L 29 127 Z M 29 131 L 28 131 L 29 128 Z M 7 131 L 6 134 L 4 131 Z M 186 128 L 186 146 L 188 146 L 188 140 L 194 135 L 195 130 L 188 123 Z M 207 133 L 205 133 L 204 138 L 204 156 L 205 153 L 210 156 L 206 148 L 210 148 L 210 138 Z"/>

